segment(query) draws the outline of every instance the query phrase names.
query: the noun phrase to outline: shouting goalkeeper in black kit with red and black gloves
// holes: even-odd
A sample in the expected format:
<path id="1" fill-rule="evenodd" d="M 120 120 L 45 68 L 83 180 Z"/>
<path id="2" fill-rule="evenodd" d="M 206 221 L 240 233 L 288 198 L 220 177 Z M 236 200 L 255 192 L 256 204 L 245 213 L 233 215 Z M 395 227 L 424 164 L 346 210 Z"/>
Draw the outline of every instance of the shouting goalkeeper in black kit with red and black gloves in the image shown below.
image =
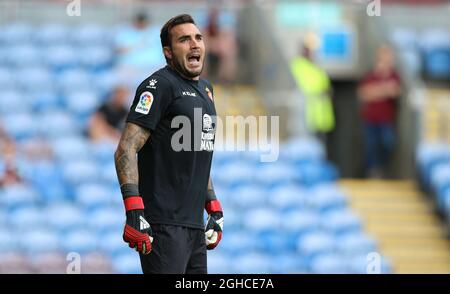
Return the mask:
<path id="1" fill-rule="evenodd" d="M 205 44 L 186 14 L 170 19 L 160 37 L 167 65 L 137 88 L 114 155 L 126 210 L 123 239 L 139 252 L 144 273 L 205 274 L 206 250 L 220 242 L 223 226 L 210 178 L 213 88 L 200 79 Z M 180 116 L 201 125 L 188 128 L 192 146 L 181 151 L 173 140 L 181 129 L 172 127 Z"/>

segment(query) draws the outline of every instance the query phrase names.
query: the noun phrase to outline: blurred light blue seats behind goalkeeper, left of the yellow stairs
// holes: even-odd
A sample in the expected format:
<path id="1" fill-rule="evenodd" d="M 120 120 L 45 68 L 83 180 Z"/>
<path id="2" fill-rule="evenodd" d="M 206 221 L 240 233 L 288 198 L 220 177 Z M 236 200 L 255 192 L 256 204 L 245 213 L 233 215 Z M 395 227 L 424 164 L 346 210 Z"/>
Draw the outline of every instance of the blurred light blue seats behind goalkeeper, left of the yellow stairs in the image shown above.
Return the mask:
<path id="1" fill-rule="evenodd" d="M 65 272 L 69 252 L 81 254 L 82 272 L 141 272 L 122 241 L 115 146 L 83 135 L 89 115 L 120 81 L 114 33 L 95 24 L 0 27 L 0 121 L 19 146 L 42 138 L 54 154 L 23 161 L 25 183 L 0 190 L 0 222 L 8 224 L 0 229 L 2 273 Z M 225 233 L 208 255 L 211 273 L 365 272 L 377 244 L 349 209 L 324 154 L 312 138 L 283 143 L 273 163 L 259 162 L 256 152 L 215 153 Z M 442 181 L 428 183 L 445 190 Z M 442 203 L 450 211 L 449 191 Z"/>

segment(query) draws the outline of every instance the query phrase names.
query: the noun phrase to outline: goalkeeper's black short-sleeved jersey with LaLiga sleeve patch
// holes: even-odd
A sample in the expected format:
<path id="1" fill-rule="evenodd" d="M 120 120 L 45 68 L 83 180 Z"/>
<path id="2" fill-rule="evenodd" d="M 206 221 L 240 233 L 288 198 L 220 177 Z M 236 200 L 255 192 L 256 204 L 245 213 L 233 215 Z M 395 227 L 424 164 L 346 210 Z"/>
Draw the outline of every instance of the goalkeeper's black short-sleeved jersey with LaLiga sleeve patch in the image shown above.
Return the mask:
<path id="1" fill-rule="evenodd" d="M 214 148 L 211 84 L 166 66 L 137 88 L 127 122 L 151 131 L 138 153 L 139 190 L 150 223 L 203 229 Z"/>

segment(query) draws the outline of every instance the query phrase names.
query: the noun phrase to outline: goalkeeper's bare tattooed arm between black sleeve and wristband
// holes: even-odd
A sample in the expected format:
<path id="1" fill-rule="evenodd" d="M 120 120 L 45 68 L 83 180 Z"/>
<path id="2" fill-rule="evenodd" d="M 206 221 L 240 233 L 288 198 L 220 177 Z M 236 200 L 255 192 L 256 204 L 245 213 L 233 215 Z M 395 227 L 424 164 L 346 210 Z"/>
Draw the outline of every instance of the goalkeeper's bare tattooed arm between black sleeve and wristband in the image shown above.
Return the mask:
<path id="1" fill-rule="evenodd" d="M 114 153 L 119 183 L 138 184 L 139 174 L 136 153 L 150 137 L 150 131 L 133 123 L 127 123 Z"/>

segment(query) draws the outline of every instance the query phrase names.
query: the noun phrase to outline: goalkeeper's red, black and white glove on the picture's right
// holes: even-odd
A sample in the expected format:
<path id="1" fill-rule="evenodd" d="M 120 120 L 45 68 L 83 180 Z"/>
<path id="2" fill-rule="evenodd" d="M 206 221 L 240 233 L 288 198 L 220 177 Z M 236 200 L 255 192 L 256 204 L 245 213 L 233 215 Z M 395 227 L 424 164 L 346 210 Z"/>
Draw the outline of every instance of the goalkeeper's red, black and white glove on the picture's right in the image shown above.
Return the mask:
<path id="1" fill-rule="evenodd" d="M 223 211 L 218 200 L 212 200 L 205 205 L 208 220 L 205 227 L 205 241 L 208 250 L 216 248 L 222 239 Z"/>

